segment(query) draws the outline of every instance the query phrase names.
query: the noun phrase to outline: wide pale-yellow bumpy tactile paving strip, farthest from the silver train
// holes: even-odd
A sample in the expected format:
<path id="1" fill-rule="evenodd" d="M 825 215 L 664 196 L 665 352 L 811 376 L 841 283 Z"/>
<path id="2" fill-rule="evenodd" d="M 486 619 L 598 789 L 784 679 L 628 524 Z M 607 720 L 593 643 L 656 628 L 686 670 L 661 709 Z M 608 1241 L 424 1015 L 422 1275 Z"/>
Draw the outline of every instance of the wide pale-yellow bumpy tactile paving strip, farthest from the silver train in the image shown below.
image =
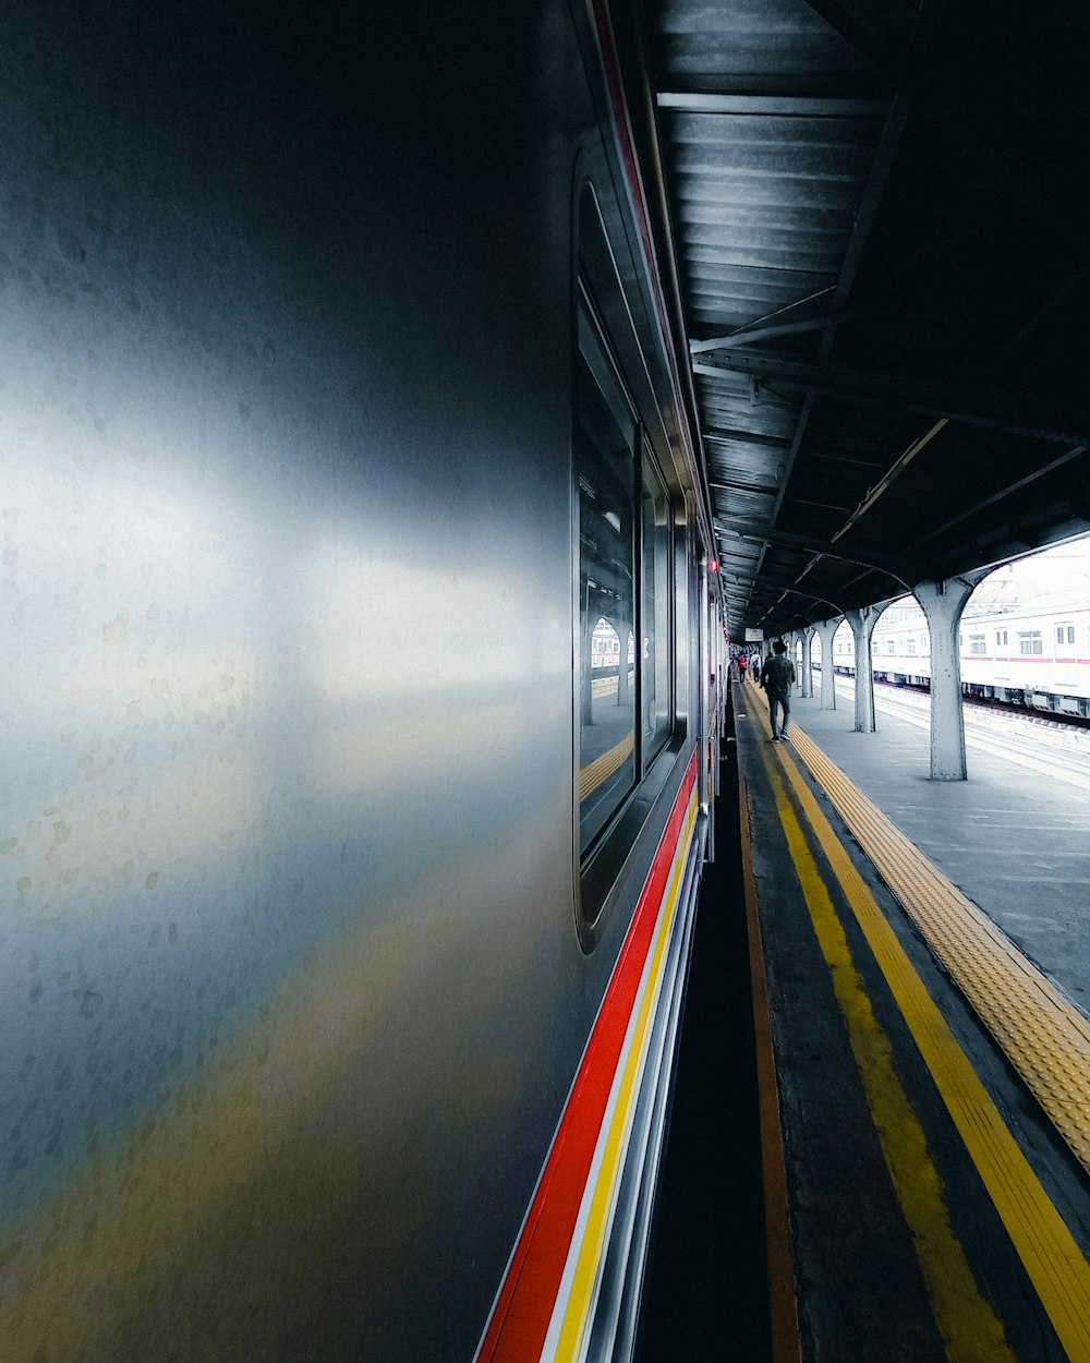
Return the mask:
<path id="1" fill-rule="evenodd" d="M 790 743 L 1090 1172 L 1090 1022 L 797 725 Z"/>

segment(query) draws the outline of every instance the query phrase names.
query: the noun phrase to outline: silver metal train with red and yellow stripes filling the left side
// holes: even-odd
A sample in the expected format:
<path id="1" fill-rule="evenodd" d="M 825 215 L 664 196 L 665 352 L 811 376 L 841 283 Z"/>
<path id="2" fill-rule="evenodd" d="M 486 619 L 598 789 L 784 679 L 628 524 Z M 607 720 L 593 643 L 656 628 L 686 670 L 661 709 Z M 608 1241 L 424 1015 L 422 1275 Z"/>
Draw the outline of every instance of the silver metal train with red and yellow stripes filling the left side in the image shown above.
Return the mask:
<path id="1" fill-rule="evenodd" d="M 4 1360 L 623 1359 L 723 639 L 605 10 L 0 48 Z"/>

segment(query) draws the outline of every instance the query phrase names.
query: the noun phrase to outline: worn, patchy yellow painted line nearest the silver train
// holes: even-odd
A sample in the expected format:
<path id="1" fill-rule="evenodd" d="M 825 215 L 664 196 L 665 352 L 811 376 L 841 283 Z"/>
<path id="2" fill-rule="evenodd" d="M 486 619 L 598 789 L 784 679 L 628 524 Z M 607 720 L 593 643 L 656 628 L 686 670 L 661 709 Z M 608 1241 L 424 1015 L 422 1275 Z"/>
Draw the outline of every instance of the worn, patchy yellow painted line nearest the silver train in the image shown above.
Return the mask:
<path id="1" fill-rule="evenodd" d="M 1003 1322 L 981 1295 L 965 1249 L 951 1228 L 943 1180 L 928 1150 L 926 1134 L 897 1073 L 892 1045 L 856 970 L 847 938 L 792 808 L 783 777 L 774 769 L 770 755 L 762 756 L 947 1359 L 950 1363 L 1016 1363 Z"/>

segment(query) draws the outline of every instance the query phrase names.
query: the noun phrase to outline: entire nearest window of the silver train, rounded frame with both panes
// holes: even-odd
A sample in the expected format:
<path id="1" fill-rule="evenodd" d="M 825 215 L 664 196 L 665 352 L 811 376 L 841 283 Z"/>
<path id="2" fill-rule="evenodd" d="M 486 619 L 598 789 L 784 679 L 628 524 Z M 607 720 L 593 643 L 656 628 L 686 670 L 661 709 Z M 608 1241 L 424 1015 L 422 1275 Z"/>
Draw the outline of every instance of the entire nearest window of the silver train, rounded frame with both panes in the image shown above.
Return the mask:
<path id="1" fill-rule="evenodd" d="M 688 578 L 683 568 L 674 581 L 684 529 L 628 386 L 643 376 L 643 357 L 590 181 L 580 185 L 576 213 L 572 823 L 575 921 L 590 951 L 673 767 L 677 582 Z"/>

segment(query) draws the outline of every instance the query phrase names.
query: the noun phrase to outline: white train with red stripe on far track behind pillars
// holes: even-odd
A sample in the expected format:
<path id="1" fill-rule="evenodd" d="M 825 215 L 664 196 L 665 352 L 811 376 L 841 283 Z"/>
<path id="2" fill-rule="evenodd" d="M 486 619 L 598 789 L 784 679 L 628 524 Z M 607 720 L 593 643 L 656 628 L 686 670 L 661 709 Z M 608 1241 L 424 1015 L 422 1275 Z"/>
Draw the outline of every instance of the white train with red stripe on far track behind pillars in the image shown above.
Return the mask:
<path id="1" fill-rule="evenodd" d="M 1034 710 L 1090 718 L 1090 605 L 1056 596 L 1022 608 L 962 616 L 962 691 Z M 876 680 L 931 682 L 925 620 L 879 620 L 871 643 Z M 854 675 L 854 645 L 834 642 L 837 672 Z"/>

